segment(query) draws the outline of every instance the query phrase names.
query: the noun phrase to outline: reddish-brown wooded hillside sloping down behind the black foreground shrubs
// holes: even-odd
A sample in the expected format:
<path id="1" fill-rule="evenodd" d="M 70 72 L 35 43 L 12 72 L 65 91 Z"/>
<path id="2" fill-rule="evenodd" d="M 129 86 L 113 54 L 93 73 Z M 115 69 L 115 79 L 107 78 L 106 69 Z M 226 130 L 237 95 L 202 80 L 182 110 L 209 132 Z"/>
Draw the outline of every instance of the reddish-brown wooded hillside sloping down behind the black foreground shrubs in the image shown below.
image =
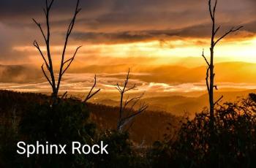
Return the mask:
<path id="1" fill-rule="evenodd" d="M 29 104 L 48 101 L 48 99 L 49 96 L 42 93 L 0 91 L 1 120 L 12 116 L 14 112 L 20 118 L 28 110 Z M 91 112 L 90 118 L 97 124 L 99 131 L 116 129 L 118 107 L 90 103 L 88 108 Z M 178 126 L 180 120 L 181 118 L 167 112 L 146 111 L 135 119 L 133 126 L 129 130 L 131 140 L 135 143 L 144 142 L 144 144 L 148 145 L 156 140 L 162 140 L 163 134 L 167 131 L 167 123 Z"/>

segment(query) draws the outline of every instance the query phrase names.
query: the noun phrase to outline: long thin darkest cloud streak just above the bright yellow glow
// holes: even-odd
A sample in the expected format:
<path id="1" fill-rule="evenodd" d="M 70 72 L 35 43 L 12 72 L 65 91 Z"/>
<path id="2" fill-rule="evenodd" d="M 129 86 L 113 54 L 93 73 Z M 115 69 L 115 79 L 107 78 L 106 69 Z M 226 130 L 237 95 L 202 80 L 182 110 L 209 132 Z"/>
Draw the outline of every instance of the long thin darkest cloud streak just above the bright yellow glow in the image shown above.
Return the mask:
<path id="1" fill-rule="evenodd" d="M 252 23 L 246 23 L 244 25 L 246 29 L 239 33 L 240 36 L 235 36 L 237 38 L 241 37 L 252 37 L 256 33 L 256 21 Z M 225 31 L 230 30 L 233 25 L 222 25 L 222 29 L 219 31 L 220 34 L 224 34 Z M 83 42 L 91 43 L 127 43 L 127 42 L 142 42 L 148 40 L 159 40 L 164 41 L 168 39 L 177 39 L 177 38 L 204 38 L 208 37 L 209 30 L 211 30 L 210 24 L 202 24 L 196 26 L 189 26 L 186 28 L 178 29 L 167 29 L 167 30 L 146 30 L 146 31 L 121 31 L 116 33 L 100 33 L 100 32 L 75 32 L 73 38 Z"/>

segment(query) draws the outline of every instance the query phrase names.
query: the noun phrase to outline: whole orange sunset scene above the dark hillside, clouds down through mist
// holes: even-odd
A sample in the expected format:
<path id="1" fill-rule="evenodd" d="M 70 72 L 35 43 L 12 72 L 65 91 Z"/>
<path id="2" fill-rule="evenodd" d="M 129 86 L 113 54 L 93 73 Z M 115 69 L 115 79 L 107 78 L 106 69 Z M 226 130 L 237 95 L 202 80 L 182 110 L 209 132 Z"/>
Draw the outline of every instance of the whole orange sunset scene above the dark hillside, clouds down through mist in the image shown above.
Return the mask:
<path id="1" fill-rule="evenodd" d="M 45 52 L 42 36 L 32 21 L 35 18 L 45 28 L 43 7 L 44 0 L 0 2 L 0 64 L 3 69 L 9 65 L 8 70 L 0 69 L 0 88 L 49 90 L 39 71 L 42 58 L 33 46 L 37 39 Z M 83 47 L 69 70 L 73 74 L 64 77 L 63 91 L 87 91 L 94 74 L 98 74 L 99 87 L 114 90 L 113 85 L 123 77 L 118 73 L 124 75 L 128 67 L 138 73 L 133 77 L 141 90 L 205 91 L 206 64 L 201 53 L 204 48 L 209 56 L 208 1 L 81 0 L 80 7 L 82 11 L 69 40 L 67 58 L 76 47 Z M 244 26 L 215 50 L 215 61 L 219 63 L 216 80 L 226 88 L 256 88 L 256 64 L 252 64 L 256 63 L 255 7 L 255 0 L 218 1 L 219 34 L 233 26 Z M 56 0 L 53 4 L 50 26 L 55 66 L 74 10 L 72 0 Z M 235 61 L 249 64 L 220 64 Z"/>

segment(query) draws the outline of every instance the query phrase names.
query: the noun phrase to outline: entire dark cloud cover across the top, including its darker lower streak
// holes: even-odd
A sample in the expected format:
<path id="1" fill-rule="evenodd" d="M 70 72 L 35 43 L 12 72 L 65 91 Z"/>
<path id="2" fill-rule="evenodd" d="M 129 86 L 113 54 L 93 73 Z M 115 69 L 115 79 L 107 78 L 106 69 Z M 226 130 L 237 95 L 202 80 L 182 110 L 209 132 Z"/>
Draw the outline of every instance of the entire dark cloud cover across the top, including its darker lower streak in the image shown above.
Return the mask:
<path id="1" fill-rule="evenodd" d="M 161 40 L 173 36 L 206 37 L 210 28 L 207 2 L 80 0 L 83 10 L 78 15 L 73 37 L 89 42 L 110 43 Z M 0 1 L 0 24 L 4 25 L 0 31 L 0 58 L 17 57 L 18 53 L 13 54 L 11 51 L 13 46 L 31 44 L 34 39 L 39 39 L 39 31 L 31 18 L 43 23 L 44 6 L 45 0 Z M 230 26 L 244 25 L 248 34 L 255 33 L 255 6 L 255 0 L 219 0 L 218 23 L 224 25 L 223 30 Z M 51 23 L 58 37 L 54 39 L 60 39 L 66 31 L 74 8 L 75 0 L 55 0 Z"/>

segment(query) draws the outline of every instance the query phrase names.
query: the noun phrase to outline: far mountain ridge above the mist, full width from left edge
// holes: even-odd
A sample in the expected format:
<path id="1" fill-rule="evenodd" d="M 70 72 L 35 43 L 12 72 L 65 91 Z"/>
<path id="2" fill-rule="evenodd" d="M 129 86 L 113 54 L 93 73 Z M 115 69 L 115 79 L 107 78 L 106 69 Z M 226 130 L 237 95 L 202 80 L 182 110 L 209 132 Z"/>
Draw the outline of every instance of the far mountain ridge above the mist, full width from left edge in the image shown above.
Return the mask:
<path id="1" fill-rule="evenodd" d="M 105 77 L 120 77 L 120 72 L 131 68 L 131 78 L 151 83 L 197 83 L 205 80 L 206 66 L 141 66 L 141 65 L 91 65 L 76 69 L 69 73 L 105 74 Z M 246 62 L 225 62 L 215 64 L 216 82 L 256 83 L 256 64 Z M 0 65 L 0 81 L 2 83 L 26 83 L 42 78 L 39 67 L 31 65 Z"/>

